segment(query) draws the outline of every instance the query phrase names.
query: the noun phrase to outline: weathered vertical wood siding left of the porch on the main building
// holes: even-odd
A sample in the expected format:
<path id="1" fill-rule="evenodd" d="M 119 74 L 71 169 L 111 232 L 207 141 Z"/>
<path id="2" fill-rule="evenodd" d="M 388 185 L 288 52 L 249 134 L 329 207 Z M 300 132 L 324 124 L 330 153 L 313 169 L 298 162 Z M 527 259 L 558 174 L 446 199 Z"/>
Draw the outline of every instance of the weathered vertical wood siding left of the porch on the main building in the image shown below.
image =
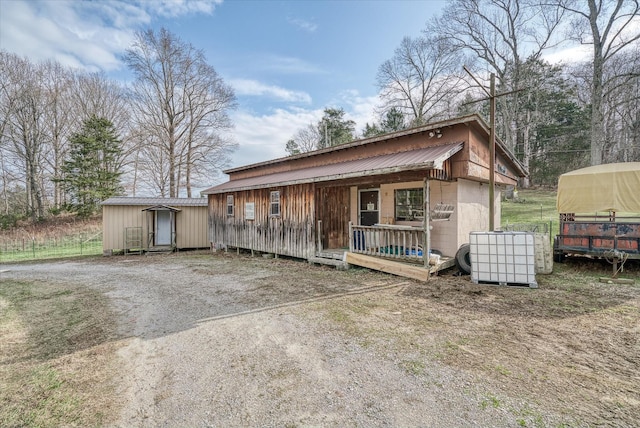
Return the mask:
<path id="1" fill-rule="evenodd" d="M 280 215 L 269 216 L 272 191 L 280 192 Z M 315 254 L 315 186 L 304 184 L 209 195 L 209 240 L 212 245 L 244 248 L 291 257 Z M 233 195 L 234 215 L 226 214 Z M 254 204 L 254 219 L 246 204 Z"/>

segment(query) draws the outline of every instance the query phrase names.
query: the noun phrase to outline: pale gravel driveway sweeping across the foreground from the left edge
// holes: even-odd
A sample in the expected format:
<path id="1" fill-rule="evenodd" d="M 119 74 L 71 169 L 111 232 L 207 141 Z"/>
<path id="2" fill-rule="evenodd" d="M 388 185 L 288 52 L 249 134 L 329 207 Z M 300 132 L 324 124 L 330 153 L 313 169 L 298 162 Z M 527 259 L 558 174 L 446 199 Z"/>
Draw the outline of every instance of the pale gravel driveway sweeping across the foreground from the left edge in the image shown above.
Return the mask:
<path id="1" fill-rule="evenodd" d="M 380 302 L 417 284 L 398 277 L 208 253 L 7 268 L 110 297 L 123 338 L 117 426 L 514 426 L 508 409 L 523 406 L 486 405 L 471 373 L 373 346 L 351 334 L 366 326 L 331 311 L 366 297 L 393 327 L 400 311 Z"/>

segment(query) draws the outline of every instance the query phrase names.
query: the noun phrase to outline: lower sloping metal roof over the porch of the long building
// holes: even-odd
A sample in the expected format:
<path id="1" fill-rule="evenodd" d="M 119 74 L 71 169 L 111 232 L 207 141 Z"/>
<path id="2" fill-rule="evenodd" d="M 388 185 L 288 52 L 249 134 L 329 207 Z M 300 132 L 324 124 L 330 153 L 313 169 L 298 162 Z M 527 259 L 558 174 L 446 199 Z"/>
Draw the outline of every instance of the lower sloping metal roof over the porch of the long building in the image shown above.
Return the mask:
<path id="1" fill-rule="evenodd" d="M 276 172 L 238 180 L 230 180 L 201 192 L 203 195 L 260 189 L 273 186 L 317 183 L 368 177 L 420 169 L 442 168 L 444 161 L 462 150 L 464 143 L 458 142 L 442 146 L 373 156 L 328 165 L 315 166 L 293 171 Z"/>

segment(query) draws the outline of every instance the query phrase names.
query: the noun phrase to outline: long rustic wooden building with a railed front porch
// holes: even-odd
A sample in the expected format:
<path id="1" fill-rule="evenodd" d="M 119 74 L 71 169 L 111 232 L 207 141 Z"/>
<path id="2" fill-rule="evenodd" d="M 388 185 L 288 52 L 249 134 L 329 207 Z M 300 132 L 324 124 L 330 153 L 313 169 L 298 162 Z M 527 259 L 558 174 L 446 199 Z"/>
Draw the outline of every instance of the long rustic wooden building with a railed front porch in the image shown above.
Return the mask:
<path id="1" fill-rule="evenodd" d="M 363 264 L 355 254 L 453 256 L 469 232 L 488 230 L 488 141 L 471 115 L 229 169 L 228 182 L 202 192 L 209 240 L 312 261 L 344 249 L 353 264 Z M 526 174 L 500 142 L 495 160 L 498 190 Z"/>

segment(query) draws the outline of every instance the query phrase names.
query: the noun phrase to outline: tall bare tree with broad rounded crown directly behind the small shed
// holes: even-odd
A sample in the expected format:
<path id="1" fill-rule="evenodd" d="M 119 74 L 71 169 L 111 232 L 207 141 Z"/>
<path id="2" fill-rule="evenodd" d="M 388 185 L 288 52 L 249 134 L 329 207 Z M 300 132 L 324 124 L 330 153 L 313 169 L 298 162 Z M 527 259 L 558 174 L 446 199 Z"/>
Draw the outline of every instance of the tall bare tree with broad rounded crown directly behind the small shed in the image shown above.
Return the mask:
<path id="1" fill-rule="evenodd" d="M 164 153 L 169 196 L 184 189 L 190 197 L 194 178 L 215 172 L 234 148 L 222 137 L 231 128 L 233 90 L 202 51 L 165 29 L 138 33 L 125 62 L 136 75 L 134 120 Z"/>

